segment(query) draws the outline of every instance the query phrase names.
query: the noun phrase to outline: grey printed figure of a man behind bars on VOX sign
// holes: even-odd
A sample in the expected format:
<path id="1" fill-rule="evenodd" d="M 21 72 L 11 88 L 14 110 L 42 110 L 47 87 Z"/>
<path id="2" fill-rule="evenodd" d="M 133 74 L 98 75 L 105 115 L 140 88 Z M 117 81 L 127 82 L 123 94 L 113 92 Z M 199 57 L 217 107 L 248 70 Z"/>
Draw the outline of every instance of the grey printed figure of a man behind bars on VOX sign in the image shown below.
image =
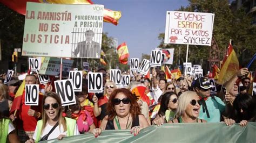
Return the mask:
<path id="1" fill-rule="evenodd" d="M 85 32 L 85 41 L 78 42 L 77 48 L 73 52 L 77 58 L 100 58 L 100 45 L 93 41 L 95 33 L 92 30 Z M 79 54 L 78 54 L 79 53 Z"/>

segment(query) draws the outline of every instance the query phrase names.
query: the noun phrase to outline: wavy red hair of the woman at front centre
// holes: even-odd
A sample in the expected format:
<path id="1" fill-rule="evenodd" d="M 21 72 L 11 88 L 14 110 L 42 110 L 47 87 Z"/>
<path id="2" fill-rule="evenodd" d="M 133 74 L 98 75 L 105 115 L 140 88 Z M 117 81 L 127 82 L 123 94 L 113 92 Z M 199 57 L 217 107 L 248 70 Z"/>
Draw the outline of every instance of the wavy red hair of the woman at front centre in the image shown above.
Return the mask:
<path id="1" fill-rule="evenodd" d="M 114 117 L 117 116 L 117 113 L 114 110 L 114 104 L 112 101 L 116 97 L 116 95 L 119 93 L 123 93 L 127 98 L 130 99 L 131 101 L 130 113 L 131 113 L 132 119 L 134 119 L 137 115 L 140 115 L 140 108 L 139 108 L 139 104 L 136 101 L 136 97 L 133 96 L 130 90 L 125 88 L 120 88 L 120 89 L 114 90 L 110 95 L 109 103 L 107 104 L 107 113 L 109 114 L 108 119 L 113 120 Z"/>

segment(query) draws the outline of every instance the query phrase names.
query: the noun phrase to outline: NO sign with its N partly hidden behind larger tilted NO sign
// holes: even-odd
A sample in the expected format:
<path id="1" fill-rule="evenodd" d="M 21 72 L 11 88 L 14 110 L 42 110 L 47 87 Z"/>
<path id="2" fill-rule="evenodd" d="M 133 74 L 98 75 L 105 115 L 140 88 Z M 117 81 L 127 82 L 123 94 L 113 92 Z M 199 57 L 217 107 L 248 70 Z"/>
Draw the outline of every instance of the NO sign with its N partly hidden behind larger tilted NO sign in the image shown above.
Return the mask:
<path id="1" fill-rule="evenodd" d="M 83 71 L 77 71 L 77 70 L 70 71 L 69 79 L 72 79 L 74 91 L 82 91 Z"/>

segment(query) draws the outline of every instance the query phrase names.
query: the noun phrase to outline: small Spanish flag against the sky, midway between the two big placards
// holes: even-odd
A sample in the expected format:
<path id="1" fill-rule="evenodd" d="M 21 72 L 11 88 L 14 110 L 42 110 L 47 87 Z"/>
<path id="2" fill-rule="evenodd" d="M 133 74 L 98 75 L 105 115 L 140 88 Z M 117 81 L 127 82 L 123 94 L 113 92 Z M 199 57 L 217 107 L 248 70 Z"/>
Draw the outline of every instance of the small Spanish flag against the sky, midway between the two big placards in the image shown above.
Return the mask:
<path id="1" fill-rule="evenodd" d="M 125 42 L 123 42 L 121 45 L 117 47 L 117 53 L 118 53 L 119 62 L 124 65 L 127 65 L 128 58 L 130 55 L 128 52 L 128 47 Z"/>

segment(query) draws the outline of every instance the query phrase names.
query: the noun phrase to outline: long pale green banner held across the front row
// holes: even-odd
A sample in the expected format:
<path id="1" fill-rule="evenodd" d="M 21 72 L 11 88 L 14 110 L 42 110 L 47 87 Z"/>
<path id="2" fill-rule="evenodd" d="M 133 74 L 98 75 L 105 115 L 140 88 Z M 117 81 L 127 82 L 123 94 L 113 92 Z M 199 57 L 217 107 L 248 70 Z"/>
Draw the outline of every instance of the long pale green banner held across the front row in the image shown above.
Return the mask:
<path id="1" fill-rule="evenodd" d="M 164 124 L 144 128 L 134 137 L 130 130 L 103 131 L 98 138 L 86 133 L 60 142 L 256 142 L 256 123 L 245 127 L 224 123 Z M 49 140 L 48 142 L 58 141 Z M 45 141 L 47 142 L 47 141 Z"/>

